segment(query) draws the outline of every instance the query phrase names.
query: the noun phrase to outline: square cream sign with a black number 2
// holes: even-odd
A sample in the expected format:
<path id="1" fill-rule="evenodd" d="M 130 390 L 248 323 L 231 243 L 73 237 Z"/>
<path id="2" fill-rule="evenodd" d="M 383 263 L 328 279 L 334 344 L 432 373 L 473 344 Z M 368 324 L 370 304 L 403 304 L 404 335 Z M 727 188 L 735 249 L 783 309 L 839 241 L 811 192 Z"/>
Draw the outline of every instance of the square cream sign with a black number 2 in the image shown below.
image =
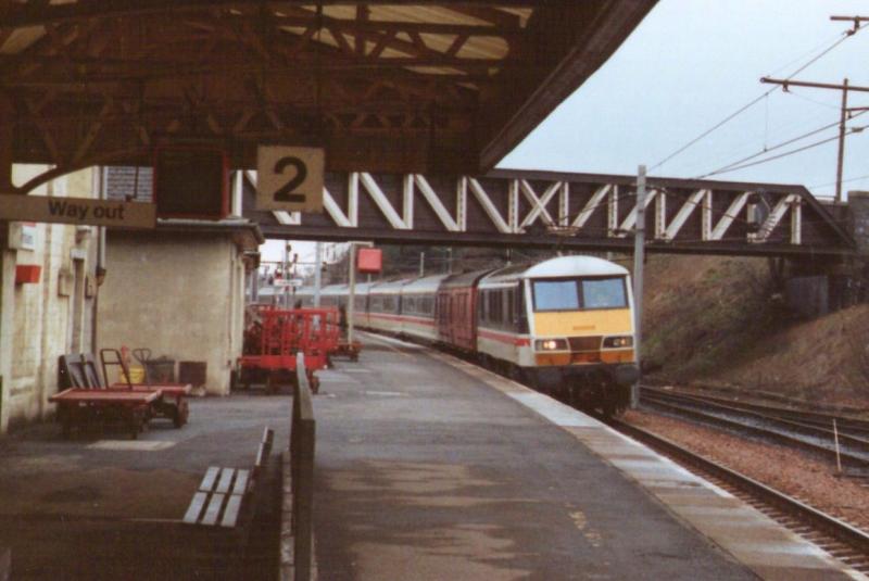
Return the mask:
<path id="1" fill-rule="evenodd" d="M 256 209 L 323 212 L 320 148 L 260 146 L 256 151 Z"/>

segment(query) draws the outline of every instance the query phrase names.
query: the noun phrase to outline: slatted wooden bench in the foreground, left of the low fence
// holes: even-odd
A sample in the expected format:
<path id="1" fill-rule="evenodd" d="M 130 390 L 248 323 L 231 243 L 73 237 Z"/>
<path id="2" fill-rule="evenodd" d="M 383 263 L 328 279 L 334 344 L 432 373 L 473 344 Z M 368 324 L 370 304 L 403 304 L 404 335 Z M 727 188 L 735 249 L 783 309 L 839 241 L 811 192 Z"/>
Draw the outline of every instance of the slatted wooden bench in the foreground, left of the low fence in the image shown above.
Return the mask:
<path id="1" fill-rule="evenodd" d="M 186 525 L 198 527 L 235 528 L 240 525 L 241 509 L 251 504 L 257 480 L 268 465 L 275 432 L 265 428 L 256 460 L 251 470 L 211 466 L 205 470 L 199 490 L 193 494 L 187 513 Z"/>

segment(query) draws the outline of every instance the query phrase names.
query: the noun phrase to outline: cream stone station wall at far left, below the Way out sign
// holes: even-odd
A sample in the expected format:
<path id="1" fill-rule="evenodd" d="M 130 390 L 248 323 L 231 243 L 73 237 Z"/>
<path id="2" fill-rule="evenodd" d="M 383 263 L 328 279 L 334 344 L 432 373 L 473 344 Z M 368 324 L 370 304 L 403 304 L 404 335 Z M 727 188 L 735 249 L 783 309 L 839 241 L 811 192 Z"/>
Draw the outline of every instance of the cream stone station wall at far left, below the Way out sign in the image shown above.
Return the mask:
<path id="1" fill-rule="evenodd" d="M 23 184 L 46 166 L 15 165 Z M 96 198 L 90 169 L 55 179 L 33 195 Z M 61 224 L 2 224 L 0 236 L 0 433 L 45 418 L 58 388 L 58 357 L 91 351 L 98 229 Z M 39 268 L 16 283 L 16 267 Z"/>

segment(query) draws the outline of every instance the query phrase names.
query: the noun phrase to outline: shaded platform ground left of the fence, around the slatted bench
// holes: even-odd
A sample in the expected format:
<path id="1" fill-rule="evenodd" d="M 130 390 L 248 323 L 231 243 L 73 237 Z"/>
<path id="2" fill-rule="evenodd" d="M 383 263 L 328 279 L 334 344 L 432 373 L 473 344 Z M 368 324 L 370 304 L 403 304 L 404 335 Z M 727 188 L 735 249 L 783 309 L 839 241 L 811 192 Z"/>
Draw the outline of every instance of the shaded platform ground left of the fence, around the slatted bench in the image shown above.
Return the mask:
<path id="1" fill-rule="evenodd" d="M 290 404 L 192 399 L 188 425 L 153 420 L 136 441 L 123 429 L 65 441 L 56 424 L 0 440 L 0 550 L 12 550 L 12 580 L 238 579 L 213 558 L 222 539 L 179 521 L 209 466 L 253 466 L 265 426 L 286 447 Z M 270 553 L 243 578 L 274 579 L 277 536 Z"/>

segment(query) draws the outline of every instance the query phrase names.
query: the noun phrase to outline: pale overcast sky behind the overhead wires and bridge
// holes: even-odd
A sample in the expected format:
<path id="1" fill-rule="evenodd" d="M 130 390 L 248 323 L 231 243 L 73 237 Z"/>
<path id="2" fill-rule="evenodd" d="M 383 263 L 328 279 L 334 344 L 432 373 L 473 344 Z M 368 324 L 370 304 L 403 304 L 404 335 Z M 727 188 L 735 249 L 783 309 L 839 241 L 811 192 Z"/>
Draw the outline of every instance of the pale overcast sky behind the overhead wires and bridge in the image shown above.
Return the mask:
<path id="1" fill-rule="evenodd" d="M 851 25 L 831 15 L 869 16 L 867 0 L 660 0 L 633 34 L 500 167 L 700 177 L 836 124 L 841 91 L 761 85 L 784 78 L 830 48 Z M 869 28 L 869 23 L 865 25 Z M 869 87 L 869 30 L 848 37 L 794 80 Z M 720 129 L 666 163 L 670 154 L 773 89 Z M 869 106 L 852 92 L 849 106 Z M 869 113 L 848 126 L 869 126 Z M 765 155 L 835 138 L 831 127 Z M 869 189 L 869 130 L 847 138 L 843 190 Z M 801 184 L 832 195 L 836 141 L 710 179 Z M 859 178 L 859 179 L 855 179 Z M 301 258 L 313 243 L 297 243 Z M 279 260 L 282 243 L 264 249 Z M 313 258 L 311 258 L 313 260 Z"/>

